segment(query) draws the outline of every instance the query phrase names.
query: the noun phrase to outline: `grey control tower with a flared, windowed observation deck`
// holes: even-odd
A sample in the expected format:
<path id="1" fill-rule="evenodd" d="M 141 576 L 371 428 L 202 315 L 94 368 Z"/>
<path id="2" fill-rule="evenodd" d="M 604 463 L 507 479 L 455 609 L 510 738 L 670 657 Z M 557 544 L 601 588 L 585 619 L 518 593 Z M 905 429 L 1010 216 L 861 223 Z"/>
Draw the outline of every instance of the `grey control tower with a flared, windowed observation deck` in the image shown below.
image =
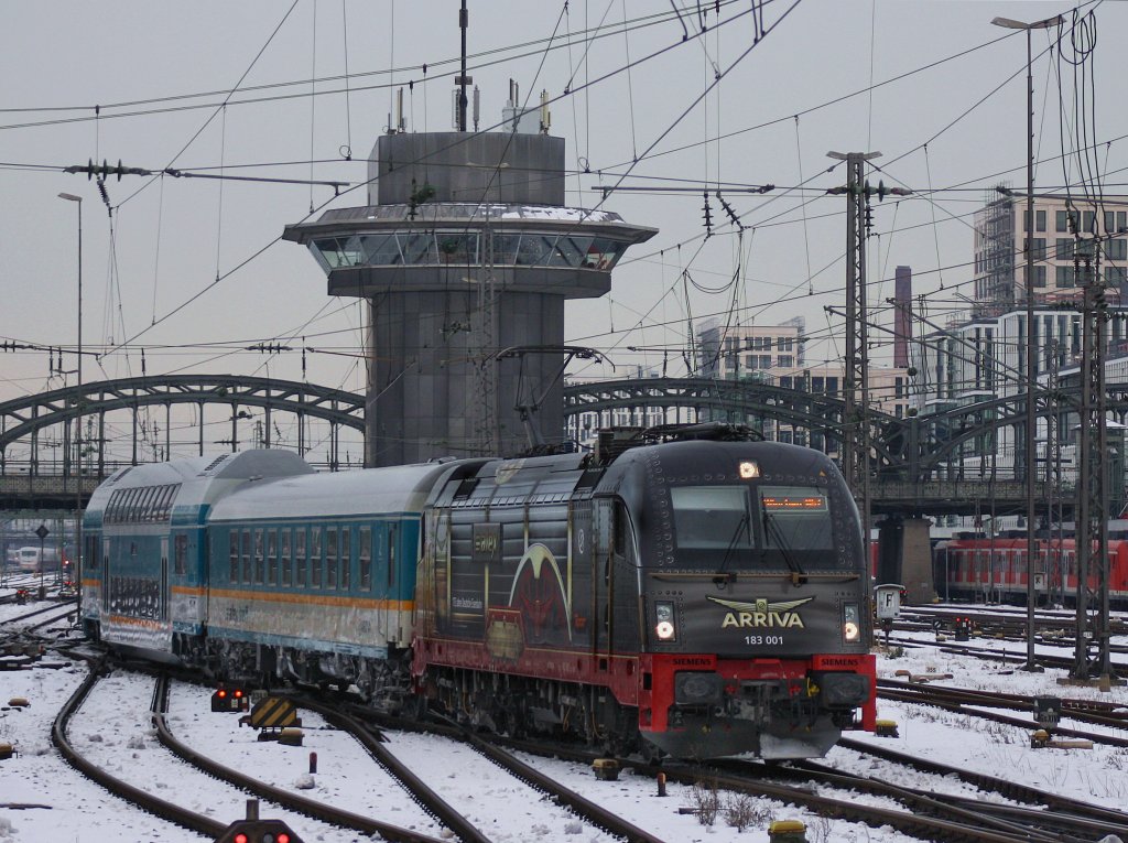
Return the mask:
<path id="1" fill-rule="evenodd" d="M 517 454 L 519 406 L 545 444 L 563 438 L 564 301 L 608 292 L 656 229 L 564 207 L 564 139 L 537 113 L 511 102 L 505 131 L 385 134 L 368 205 L 285 228 L 331 296 L 369 301 L 368 466 Z"/>

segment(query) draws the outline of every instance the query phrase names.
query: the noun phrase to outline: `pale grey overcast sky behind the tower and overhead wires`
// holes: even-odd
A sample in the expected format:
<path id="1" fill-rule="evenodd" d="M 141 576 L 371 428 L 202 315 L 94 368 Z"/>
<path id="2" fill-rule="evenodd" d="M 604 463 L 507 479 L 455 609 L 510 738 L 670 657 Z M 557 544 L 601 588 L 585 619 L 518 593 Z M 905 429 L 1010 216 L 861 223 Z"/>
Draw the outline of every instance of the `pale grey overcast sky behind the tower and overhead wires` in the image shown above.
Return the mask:
<path id="1" fill-rule="evenodd" d="M 707 239 L 698 192 L 606 199 L 605 209 L 660 234 L 628 252 L 610 297 L 567 306 L 567 342 L 616 363 L 574 374 L 663 360 L 682 374 L 689 319 L 726 318 L 732 305 L 744 324 L 803 316 L 814 339 L 808 361 L 840 355 L 841 319 L 825 308 L 844 306 L 845 201 L 825 192 L 845 182 L 845 167 L 827 172 L 829 150 L 881 151 L 872 181 L 915 192 L 875 205 L 875 317 L 891 324 L 881 302 L 900 264 L 913 267 L 929 318 L 971 295 L 971 214 L 999 181 L 1025 184 L 1025 36 L 990 21 L 1061 12 L 1072 27 L 1074 7 L 678 5 L 680 17 L 666 0 L 572 0 L 566 11 L 469 3 L 482 128 L 500 117 L 510 79 L 522 99 L 546 90 L 574 173 L 569 204 L 594 207 L 593 188 L 616 184 L 713 194 Z M 1081 139 L 1096 144 L 1089 172 L 1108 193 L 1122 191 L 1128 3 L 1081 14 L 1090 11 L 1064 55 L 1046 52 L 1047 33 L 1033 36 L 1039 190 L 1076 185 L 1078 160 L 1061 152 Z M 363 311 L 327 297 L 314 258 L 279 237 L 311 207 L 319 216 L 363 204 L 363 159 L 395 89 L 405 88 L 408 131 L 451 129 L 458 2 L 10 3 L 8 21 L 0 340 L 74 349 L 77 205 L 58 197 L 69 192 L 83 200 L 83 344 L 107 352 L 86 358 L 85 380 L 141 374 L 143 349 L 150 375 L 270 372 L 361 390 Z M 1067 61 L 1094 35 L 1090 60 Z M 334 199 L 320 185 L 127 175 L 106 183 L 109 216 L 94 182 L 61 172 L 89 159 L 361 186 Z M 715 197 L 719 182 L 741 236 Z M 774 187 L 747 191 L 760 185 Z M 296 351 L 235 351 L 264 342 Z M 874 358 L 888 362 L 891 351 Z M 73 361 L 63 354 L 63 368 Z M 62 386 L 49 372 L 42 350 L 6 353 L 0 399 Z"/>

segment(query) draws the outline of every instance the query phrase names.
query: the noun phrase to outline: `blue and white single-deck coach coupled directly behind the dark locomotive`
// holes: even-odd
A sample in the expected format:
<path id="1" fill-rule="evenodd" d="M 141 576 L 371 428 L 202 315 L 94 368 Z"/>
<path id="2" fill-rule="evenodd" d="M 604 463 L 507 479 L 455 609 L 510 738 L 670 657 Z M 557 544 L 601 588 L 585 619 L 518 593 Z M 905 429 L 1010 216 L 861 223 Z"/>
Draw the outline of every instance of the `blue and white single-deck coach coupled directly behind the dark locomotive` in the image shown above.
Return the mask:
<path id="1" fill-rule="evenodd" d="M 370 688 L 409 658 L 421 512 L 449 463 L 250 483 L 208 517 L 209 660 Z"/>

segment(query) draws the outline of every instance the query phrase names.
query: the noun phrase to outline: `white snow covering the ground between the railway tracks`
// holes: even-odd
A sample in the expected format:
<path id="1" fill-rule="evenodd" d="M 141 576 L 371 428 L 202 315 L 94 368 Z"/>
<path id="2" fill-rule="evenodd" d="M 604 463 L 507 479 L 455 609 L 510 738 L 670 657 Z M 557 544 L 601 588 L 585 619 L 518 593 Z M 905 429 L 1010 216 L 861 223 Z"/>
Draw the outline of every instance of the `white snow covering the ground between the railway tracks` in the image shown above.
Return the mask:
<path id="1" fill-rule="evenodd" d="M 26 611 L 26 607 L 0 606 L 0 623 Z M 928 640 L 932 636 L 920 638 Z M 1012 653 L 1017 653 L 1020 647 L 1013 642 L 1003 644 L 995 641 L 980 642 L 979 646 L 1008 648 Z M 879 674 L 885 677 L 893 677 L 897 670 L 951 673 L 953 678 L 943 680 L 943 684 L 1026 694 L 1099 697 L 1128 705 L 1128 690 L 1125 687 L 1114 687 L 1104 694 L 1096 688 L 1063 687 L 1057 684 L 1060 671 L 1026 674 L 1013 667 L 934 649 L 882 653 L 878 666 Z M 86 666 L 82 664 L 58 670 L 39 668 L 0 673 L 0 741 L 11 743 L 18 750 L 16 757 L 0 762 L 0 841 L 186 843 L 204 840 L 109 797 L 71 770 L 59 756 L 51 744 L 51 723 L 60 704 L 85 675 Z M 7 702 L 16 696 L 27 697 L 30 705 L 21 710 L 7 706 Z M 218 819 L 241 818 L 245 796 L 195 773 L 157 743 L 148 717 L 151 696 L 151 679 L 126 674 L 113 676 L 80 710 L 72 740 L 82 752 L 108 762 L 134 783 L 148 782 L 166 799 L 176 800 L 186 796 L 192 807 L 206 807 Z M 301 712 L 301 715 L 306 732 L 302 747 L 261 744 L 252 729 L 238 726 L 236 715 L 212 713 L 205 690 L 178 685 L 171 694 L 168 722 L 182 740 L 229 766 L 254 772 L 281 787 L 309 784 L 311 779 L 312 790 L 305 791 L 306 796 L 441 836 L 441 829 L 434 826 L 433 820 L 404 796 L 358 745 L 333 729 L 321 728 L 324 723 L 316 714 Z M 1029 731 L 1025 729 L 900 703 L 882 702 L 879 717 L 897 721 L 898 738 L 875 738 L 864 732 L 851 732 L 851 736 L 1113 808 L 1126 804 L 1128 749 L 1095 746 L 1090 750 L 1034 750 L 1030 748 Z M 1063 720 L 1063 726 L 1067 725 Z M 482 820 L 486 834 L 496 843 L 605 843 L 611 840 L 566 810 L 546 800 L 530 798 L 525 785 L 510 781 L 496 767 L 483 766 L 461 746 L 432 737 L 404 735 L 393 736 L 391 748 L 407 758 L 432 787 L 449 794 L 464 814 Z M 318 771 L 312 776 L 308 770 L 310 752 L 318 754 Z M 893 772 L 884 762 L 841 747 L 836 747 L 827 762 L 909 787 L 969 793 L 969 788 L 960 782 L 906 773 L 899 767 Z M 670 843 L 766 843 L 766 820 L 769 817 L 807 822 L 810 843 L 905 843 L 910 840 L 888 828 L 825 820 L 795 806 L 767 800 L 756 800 L 755 809 L 764 819 L 754 828 L 738 832 L 726 824 L 723 814 L 715 825 L 703 826 L 695 816 L 678 813 L 679 808 L 695 805 L 688 788 L 671 783 L 668 796 L 661 798 L 654 782 L 642 776 L 624 774 L 619 781 L 602 782 L 583 765 L 539 758 L 532 763 L 550 771 L 573 790 L 614 807 L 635 825 Z M 840 798 L 840 793 L 838 796 Z M 12 807 L 19 804 L 35 807 Z M 287 819 L 306 841 L 336 843 L 367 840 L 359 833 L 332 829 L 303 817 L 283 814 L 267 804 L 263 805 L 262 815 Z"/>

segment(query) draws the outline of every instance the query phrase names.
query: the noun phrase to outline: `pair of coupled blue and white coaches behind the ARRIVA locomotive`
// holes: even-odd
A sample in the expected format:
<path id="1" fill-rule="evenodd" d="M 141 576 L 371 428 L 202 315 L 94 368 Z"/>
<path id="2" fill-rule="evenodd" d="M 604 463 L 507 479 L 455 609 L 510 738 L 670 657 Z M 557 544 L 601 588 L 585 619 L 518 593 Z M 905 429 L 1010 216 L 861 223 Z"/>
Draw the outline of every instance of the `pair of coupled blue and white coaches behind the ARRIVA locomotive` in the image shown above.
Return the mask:
<path id="1" fill-rule="evenodd" d="M 406 677 L 421 513 L 455 465 L 318 474 L 250 450 L 125 468 L 87 508 L 87 632 L 221 677 L 371 690 L 389 657 Z"/>

